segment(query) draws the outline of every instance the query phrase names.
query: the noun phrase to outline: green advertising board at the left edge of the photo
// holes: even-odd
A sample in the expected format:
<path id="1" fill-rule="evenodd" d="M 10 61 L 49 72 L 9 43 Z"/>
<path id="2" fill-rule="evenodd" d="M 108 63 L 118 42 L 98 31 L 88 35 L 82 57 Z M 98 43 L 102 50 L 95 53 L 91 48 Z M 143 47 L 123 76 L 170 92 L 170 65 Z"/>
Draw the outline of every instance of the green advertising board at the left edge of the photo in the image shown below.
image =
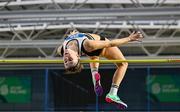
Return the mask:
<path id="1" fill-rule="evenodd" d="M 0 76 L 0 102 L 29 103 L 31 77 Z"/>

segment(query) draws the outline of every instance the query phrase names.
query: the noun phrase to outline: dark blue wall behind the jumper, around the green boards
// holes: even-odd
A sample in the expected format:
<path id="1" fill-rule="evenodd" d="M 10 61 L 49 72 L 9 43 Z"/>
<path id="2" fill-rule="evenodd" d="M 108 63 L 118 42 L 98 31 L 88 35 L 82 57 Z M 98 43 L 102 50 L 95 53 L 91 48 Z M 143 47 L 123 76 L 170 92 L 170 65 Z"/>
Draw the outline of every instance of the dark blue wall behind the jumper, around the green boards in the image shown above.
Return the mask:
<path id="1" fill-rule="evenodd" d="M 44 69 L 1 70 L 0 76 L 32 77 L 32 100 L 27 104 L 1 102 L 0 110 L 118 110 L 104 100 L 109 92 L 114 71 L 115 69 L 100 69 L 104 94 L 98 98 L 93 90 L 89 69 L 74 75 L 64 74 L 60 69 L 50 69 L 48 82 L 45 80 L 47 71 Z M 118 92 L 120 98 L 128 104 L 127 110 L 180 110 L 180 102 L 162 103 L 152 100 L 146 86 L 146 78 L 152 74 L 180 75 L 180 70 L 179 68 L 129 68 Z"/>

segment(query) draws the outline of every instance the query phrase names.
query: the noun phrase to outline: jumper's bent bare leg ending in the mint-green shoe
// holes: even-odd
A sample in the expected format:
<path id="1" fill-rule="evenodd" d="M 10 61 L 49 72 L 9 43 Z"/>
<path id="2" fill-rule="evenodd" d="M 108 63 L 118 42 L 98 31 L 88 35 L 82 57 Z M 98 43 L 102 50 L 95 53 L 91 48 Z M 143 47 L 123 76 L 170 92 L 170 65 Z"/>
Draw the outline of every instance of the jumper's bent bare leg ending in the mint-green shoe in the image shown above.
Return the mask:
<path id="1" fill-rule="evenodd" d="M 125 57 L 123 56 L 122 52 L 117 47 L 106 48 L 103 53 L 103 56 L 106 57 L 107 59 L 125 60 Z M 119 106 L 121 106 L 122 108 L 126 108 L 127 105 L 119 99 L 119 97 L 117 96 L 117 92 L 126 73 L 128 63 L 127 62 L 116 63 L 116 65 L 117 65 L 117 69 L 112 79 L 112 86 L 110 92 L 106 96 L 106 101 L 120 104 Z"/>

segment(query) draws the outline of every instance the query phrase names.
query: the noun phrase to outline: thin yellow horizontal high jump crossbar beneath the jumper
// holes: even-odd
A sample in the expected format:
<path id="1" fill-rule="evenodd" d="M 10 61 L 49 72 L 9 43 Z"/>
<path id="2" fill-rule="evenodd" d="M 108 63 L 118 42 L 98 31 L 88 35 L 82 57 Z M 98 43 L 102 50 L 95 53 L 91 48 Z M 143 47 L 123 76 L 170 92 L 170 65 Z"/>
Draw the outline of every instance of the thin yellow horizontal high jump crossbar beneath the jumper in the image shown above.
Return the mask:
<path id="1" fill-rule="evenodd" d="M 134 59 L 134 60 L 80 60 L 81 63 L 180 63 L 180 59 Z M 62 64 L 58 59 L 1 59 L 0 64 Z"/>

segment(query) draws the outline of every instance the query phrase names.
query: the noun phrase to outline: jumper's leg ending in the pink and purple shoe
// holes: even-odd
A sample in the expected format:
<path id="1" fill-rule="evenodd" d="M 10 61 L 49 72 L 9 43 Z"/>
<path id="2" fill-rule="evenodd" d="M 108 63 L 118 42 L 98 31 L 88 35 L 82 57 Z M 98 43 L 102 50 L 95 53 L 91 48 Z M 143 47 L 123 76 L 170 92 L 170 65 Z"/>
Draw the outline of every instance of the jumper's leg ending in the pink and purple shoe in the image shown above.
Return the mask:
<path id="1" fill-rule="evenodd" d="M 90 59 L 91 60 L 99 60 L 99 57 L 93 56 L 93 57 L 90 57 Z M 97 62 L 90 63 L 90 67 L 91 67 L 92 81 L 94 84 L 94 91 L 97 96 L 101 96 L 103 94 L 103 88 L 102 88 L 101 82 L 100 82 L 101 76 L 98 72 L 99 63 L 97 63 Z"/>

